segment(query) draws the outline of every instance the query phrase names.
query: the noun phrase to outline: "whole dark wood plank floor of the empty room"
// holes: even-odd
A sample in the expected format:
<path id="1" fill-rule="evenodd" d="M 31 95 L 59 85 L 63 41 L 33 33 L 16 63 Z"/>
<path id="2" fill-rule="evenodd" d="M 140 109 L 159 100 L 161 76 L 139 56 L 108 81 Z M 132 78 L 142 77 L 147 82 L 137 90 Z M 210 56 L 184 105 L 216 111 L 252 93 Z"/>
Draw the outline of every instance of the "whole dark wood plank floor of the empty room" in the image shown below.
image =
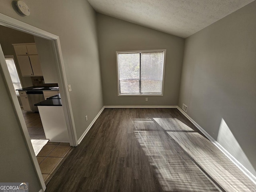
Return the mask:
<path id="1" fill-rule="evenodd" d="M 236 176 L 245 181 L 236 186 L 236 180 L 225 182 L 230 167 L 222 175 L 218 173 L 222 168 L 215 172 L 209 166 L 214 157 L 208 150 L 221 161 L 228 160 L 198 133 L 177 109 L 104 109 L 47 184 L 46 192 L 255 191 L 238 168 L 234 168 Z M 210 160 L 205 162 L 199 154 Z"/>

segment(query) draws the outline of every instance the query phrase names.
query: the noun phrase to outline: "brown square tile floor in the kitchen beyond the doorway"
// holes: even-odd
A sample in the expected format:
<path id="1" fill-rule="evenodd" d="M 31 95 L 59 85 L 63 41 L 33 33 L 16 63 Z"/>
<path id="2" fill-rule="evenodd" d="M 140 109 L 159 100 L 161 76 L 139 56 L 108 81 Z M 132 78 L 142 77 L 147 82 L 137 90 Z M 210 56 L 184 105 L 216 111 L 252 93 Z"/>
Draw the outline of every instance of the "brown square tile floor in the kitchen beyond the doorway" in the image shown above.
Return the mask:
<path id="1" fill-rule="evenodd" d="M 44 182 L 47 184 L 72 148 L 69 143 L 49 142 L 46 139 L 39 113 L 28 113 L 23 109 L 22 113 Z"/>

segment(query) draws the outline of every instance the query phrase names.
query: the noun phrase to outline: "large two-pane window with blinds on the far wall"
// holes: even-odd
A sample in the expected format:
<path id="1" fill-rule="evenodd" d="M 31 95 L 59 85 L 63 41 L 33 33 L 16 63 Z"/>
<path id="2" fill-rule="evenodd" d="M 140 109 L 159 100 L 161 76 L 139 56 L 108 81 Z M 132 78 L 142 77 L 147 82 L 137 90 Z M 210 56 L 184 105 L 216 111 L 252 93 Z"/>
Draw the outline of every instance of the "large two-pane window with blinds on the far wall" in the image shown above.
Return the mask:
<path id="1" fill-rule="evenodd" d="M 116 52 L 118 96 L 163 95 L 166 50 Z"/>

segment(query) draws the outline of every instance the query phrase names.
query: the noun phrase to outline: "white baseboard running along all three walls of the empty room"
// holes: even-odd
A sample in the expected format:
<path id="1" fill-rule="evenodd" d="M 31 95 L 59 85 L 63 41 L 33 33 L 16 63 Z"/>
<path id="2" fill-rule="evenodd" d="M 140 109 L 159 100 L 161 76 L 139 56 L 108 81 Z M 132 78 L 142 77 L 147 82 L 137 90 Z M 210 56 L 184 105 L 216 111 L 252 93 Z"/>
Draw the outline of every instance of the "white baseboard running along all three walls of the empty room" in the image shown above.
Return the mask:
<path id="1" fill-rule="evenodd" d="M 105 108 L 177 108 L 188 120 L 190 120 L 196 128 L 198 128 L 224 155 L 226 155 L 254 184 L 256 184 L 256 176 L 254 176 L 248 169 L 246 169 L 236 158 L 234 158 L 225 148 L 223 148 L 212 136 L 210 136 L 200 125 L 198 125 L 188 114 L 186 114 L 179 106 L 103 106 L 100 112 L 96 115 L 94 120 L 90 123 L 88 128 L 78 139 L 78 144 L 82 142 L 94 122 L 98 119 Z"/>

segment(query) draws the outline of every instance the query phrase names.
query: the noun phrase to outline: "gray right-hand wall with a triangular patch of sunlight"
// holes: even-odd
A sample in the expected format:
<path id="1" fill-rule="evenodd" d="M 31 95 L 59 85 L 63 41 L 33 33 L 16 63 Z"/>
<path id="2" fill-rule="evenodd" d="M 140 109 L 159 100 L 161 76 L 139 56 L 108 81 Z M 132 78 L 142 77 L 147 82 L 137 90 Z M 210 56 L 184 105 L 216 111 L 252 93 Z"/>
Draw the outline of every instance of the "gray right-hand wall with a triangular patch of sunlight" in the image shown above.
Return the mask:
<path id="1" fill-rule="evenodd" d="M 256 168 L 255 10 L 256 1 L 186 38 L 179 100 L 180 108 L 186 104 L 187 114 L 252 172 L 241 156 L 243 150 Z M 222 119 L 226 126 L 220 126 Z"/>

